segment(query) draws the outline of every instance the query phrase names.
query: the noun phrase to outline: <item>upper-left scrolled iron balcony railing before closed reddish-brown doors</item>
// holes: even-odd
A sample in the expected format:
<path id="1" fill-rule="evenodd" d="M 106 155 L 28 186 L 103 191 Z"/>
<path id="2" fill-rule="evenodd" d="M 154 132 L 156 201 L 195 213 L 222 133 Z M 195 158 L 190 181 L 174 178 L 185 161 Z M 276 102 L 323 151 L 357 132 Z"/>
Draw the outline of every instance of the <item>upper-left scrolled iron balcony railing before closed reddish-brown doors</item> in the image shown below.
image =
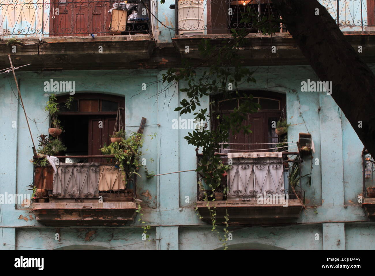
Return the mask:
<path id="1" fill-rule="evenodd" d="M 0 1 L 0 35 L 9 38 L 150 33 L 149 0 Z"/>

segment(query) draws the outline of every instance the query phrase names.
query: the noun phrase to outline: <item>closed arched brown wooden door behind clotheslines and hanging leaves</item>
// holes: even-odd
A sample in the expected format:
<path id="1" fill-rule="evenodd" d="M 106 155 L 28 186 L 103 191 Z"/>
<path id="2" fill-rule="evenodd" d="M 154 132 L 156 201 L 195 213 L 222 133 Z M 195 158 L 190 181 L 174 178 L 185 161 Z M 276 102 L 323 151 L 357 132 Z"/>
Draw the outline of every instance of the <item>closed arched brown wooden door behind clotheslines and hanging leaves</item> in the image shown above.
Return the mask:
<path id="1" fill-rule="evenodd" d="M 248 91 L 248 94 L 254 96 L 253 101 L 259 103 L 261 109 L 258 112 L 248 114 L 246 121 L 243 121 L 243 125 L 251 125 L 251 134 L 246 134 L 243 131 L 237 134 L 229 133 L 229 149 L 234 150 L 231 152 L 240 152 L 241 150 L 245 152 L 249 150 L 276 151 L 276 149 L 272 148 L 275 148 L 276 144 L 284 139 L 286 134 L 279 137 L 275 133 L 275 128 L 272 127 L 272 122 L 286 118 L 285 94 L 268 91 Z M 217 110 L 211 110 L 211 112 L 221 113 L 222 115 L 228 115 L 233 112 L 233 109 L 238 107 L 241 101 L 241 99 L 237 98 L 235 100 L 222 100 L 222 95 L 214 95 L 212 100 L 216 101 Z M 215 128 L 219 124 L 219 119 L 216 119 L 216 116 L 213 116 L 213 118 L 213 128 Z M 227 152 L 225 149 L 220 151 Z"/>

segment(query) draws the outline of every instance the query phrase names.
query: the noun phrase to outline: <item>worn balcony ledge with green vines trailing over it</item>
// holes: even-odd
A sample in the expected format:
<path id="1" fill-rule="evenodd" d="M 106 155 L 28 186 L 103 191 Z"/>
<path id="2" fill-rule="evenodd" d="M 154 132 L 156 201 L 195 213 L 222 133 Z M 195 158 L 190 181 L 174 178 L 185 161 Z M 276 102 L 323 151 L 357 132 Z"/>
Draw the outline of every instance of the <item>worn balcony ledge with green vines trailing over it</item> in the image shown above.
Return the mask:
<path id="1" fill-rule="evenodd" d="M 284 224 L 292 223 L 299 218 L 303 204 L 298 199 L 289 199 L 288 207 L 282 204 L 257 204 L 256 199 L 242 201 L 208 201 L 210 207 L 216 207 L 217 223 L 225 222 L 224 216 L 229 214 L 230 225 Z M 211 223 L 207 201 L 196 203 L 202 220 Z M 211 208 L 212 210 L 212 208 Z"/>

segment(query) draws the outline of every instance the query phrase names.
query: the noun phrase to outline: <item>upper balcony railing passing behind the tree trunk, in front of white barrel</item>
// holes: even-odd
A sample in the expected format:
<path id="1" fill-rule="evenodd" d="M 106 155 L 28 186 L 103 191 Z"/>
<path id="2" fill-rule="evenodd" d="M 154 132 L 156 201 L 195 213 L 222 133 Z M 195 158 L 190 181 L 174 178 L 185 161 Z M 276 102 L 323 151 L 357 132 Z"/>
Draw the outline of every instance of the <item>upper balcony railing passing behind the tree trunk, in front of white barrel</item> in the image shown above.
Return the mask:
<path id="1" fill-rule="evenodd" d="M 374 26 L 374 1 L 318 0 L 336 20 L 342 31 L 363 31 Z M 231 29 L 261 32 L 254 27 L 260 18 L 282 20 L 272 0 L 176 0 L 177 35 L 229 34 Z M 369 12 L 367 12 L 369 9 Z M 248 20 L 243 23 L 242 18 Z M 369 20 L 368 20 L 369 17 Z M 274 32 L 287 32 L 275 23 Z"/>

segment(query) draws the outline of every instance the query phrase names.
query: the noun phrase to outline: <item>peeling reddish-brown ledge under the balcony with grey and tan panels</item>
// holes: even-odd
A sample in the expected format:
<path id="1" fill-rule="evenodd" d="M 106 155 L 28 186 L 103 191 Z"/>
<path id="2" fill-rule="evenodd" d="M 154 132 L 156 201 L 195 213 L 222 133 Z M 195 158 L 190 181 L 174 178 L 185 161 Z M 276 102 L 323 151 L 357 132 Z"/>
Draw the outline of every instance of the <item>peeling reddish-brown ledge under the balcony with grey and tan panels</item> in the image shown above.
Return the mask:
<path id="1" fill-rule="evenodd" d="M 46 226 L 120 226 L 132 221 L 135 202 L 33 203 L 36 220 Z"/>

